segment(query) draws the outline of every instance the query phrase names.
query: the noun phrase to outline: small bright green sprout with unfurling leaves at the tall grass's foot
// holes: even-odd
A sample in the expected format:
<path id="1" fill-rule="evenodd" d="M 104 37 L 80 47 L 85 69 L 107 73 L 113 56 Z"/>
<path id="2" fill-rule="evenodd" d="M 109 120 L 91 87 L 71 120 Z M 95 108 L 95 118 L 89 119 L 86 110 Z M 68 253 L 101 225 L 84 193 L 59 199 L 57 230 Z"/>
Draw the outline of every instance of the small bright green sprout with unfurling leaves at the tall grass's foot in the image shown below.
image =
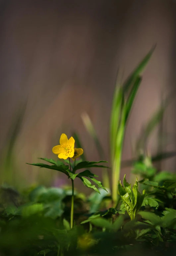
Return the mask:
<path id="1" fill-rule="evenodd" d="M 136 178 L 135 184 L 133 185 L 133 188 L 131 188 L 131 184 L 126 181 L 125 177 L 126 174 L 123 179 L 123 186 L 121 181 L 118 182 L 118 192 L 128 215 L 131 220 L 133 220 L 143 204 L 146 190 L 143 190 L 143 194 L 141 195 L 138 191 L 138 179 Z"/>

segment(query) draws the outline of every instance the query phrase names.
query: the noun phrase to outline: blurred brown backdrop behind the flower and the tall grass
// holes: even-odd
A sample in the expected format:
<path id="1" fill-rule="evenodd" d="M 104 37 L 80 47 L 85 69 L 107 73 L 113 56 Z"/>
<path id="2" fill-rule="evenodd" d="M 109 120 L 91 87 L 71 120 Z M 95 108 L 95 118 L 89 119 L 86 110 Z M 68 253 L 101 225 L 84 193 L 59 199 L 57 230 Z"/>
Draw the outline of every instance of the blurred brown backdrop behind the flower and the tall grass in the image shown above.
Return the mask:
<path id="1" fill-rule="evenodd" d="M 101 160 L 109 161 L 117 69 L 124 81 L 156 43 L 126 129 L 122 158 L 134 158 L 144 124 L 175 90 L 176 1 L 1 0 L 0 20 L 1 183 L 67 183 L 54 171 L 26 165 L 38 162 L 37 157 L 57 159 L 52 147 L 61 133 L 70 137 L 76 131 L 87 160 L 100 160 L 83 124 L 84 112 L 104 149 Z M 175 99 L 152 133 L 151 154 L 176 150 Z M 158 164 L 174 172 L 176 157 Z M 101 176 L 101 170 L 96 173 Z M 128 176 L 130 167 L 124 173 Z"/>

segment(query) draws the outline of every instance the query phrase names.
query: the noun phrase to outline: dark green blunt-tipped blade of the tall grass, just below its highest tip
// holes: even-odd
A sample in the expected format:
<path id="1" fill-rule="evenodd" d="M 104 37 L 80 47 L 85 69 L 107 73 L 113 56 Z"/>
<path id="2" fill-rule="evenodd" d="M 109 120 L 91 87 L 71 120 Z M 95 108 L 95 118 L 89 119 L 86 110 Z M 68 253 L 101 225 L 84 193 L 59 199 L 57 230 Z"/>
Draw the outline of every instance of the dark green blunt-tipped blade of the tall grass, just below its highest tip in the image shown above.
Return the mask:
<path id="1" fill-rule="evenodd" d="M 130 92 L 130 95 L 128 97 L 128 100 L 127 100 L 127 103 L 126 103 L 126 121 L 128 119 L 128 116 L 130 114 L 130 111 L 131 111 L 131 108 L 132 108 L 132 105 L 133 105 L 133 102 L 134 102 L 134 99 L 135 99 L 135 96 L 136 96 L 136 93 L 138 91 L 138 88 L 141 84 L 141 80 L 142 78 L 140 76 L 137 76 L 134 84 L 133 84 L 133 87 L 132 87 L 132 90 Z"/>

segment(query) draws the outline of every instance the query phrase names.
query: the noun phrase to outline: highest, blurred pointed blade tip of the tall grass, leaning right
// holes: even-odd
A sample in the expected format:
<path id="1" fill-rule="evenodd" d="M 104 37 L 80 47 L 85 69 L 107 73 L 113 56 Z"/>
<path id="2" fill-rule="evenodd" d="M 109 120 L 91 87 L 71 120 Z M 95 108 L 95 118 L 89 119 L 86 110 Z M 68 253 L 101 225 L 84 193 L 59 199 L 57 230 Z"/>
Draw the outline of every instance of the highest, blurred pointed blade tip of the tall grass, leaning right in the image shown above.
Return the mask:
<path id="1" fill-rule="evenodd" d="M 153 51 L 154 51 L 153 47 L 148 53 L 147 55 L 143 58 L 143 60 L 139 63 L 139 65 L 136 67 L 136 69 L 132 72 L 132 74 L 127 78 L 127 80 L 124 83 L 124 92 L 127 92 L 130 88 L 130 86 L 134 83 L 134 81 L 137 79 L 137 77 L 141 74 L 141 72 L 144 70 L 144 68 L 146 67 Z"/>

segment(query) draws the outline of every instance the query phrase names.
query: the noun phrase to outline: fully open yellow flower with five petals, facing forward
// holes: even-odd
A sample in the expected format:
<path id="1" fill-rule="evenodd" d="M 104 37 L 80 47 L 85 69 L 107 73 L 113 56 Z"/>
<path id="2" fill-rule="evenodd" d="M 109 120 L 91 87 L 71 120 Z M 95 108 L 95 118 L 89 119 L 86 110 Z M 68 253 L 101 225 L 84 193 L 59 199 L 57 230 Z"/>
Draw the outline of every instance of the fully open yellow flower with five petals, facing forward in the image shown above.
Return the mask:
<path id="1" fill-rule="evenodd" d="M 67 159 L 74 156 L 75 140 L 73 137 L 67 138 L 65 133 L 62 133 L 60 137 L 60 145 L 53 147 L 52 151 L 58 155 L 59 158 Z"/>

